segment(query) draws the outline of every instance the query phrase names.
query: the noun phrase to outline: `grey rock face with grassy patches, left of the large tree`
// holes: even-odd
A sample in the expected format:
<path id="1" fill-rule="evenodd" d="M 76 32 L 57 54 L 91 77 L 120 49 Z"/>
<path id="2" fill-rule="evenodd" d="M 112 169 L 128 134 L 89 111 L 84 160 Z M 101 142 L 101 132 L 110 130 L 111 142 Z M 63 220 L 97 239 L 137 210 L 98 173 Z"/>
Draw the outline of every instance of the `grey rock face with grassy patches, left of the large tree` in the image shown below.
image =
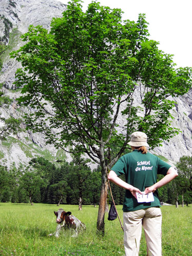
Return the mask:
<path id="1" fill-rule="evenodd" d="M 3 56 L 4 65 L 0 79 L 4 84 L 5 94 L 14 100 L 8 110 L 1 110 L 4 117 L 18 117 L 21 114 L 16 111 L 16 98 L 20 93 L 10 90 L 15 89 L 13 82 L 20 63 L 10 59 L 9 53 L 23 45 L 19 37 L 28 31 L 30 25 L 41 25 L 49 29 L 51 19 L 61 17 L 65 9 L 66 5 L 54 0 L 0 0 L 0 40 L 8 45 L 8 50 Z M 0 144 L 0 152 L 0 164 L 6 164 L 8 167 L 25 165 L 35 156 L 43 156 L 50 161 L 63 158 L 71 160 L 69 154 L 56 150 L 52 145 L 46 145 L 44 136 L 39 133 L 23 132 L 11 136 Z"/>

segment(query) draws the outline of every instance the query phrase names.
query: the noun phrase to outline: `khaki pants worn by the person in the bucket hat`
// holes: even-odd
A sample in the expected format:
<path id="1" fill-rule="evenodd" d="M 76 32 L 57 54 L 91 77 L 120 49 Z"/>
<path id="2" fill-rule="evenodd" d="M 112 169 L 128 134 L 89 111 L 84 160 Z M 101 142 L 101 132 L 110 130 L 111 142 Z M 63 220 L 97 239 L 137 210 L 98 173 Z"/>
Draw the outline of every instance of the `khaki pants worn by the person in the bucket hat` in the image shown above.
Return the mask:
<path id="1" fill-rule="evenodd" d="M 125 256 L 138 256 L 142 226 L 145 233 L 147 255 L 161 256 L 161 209 L 123 212 Z"/>

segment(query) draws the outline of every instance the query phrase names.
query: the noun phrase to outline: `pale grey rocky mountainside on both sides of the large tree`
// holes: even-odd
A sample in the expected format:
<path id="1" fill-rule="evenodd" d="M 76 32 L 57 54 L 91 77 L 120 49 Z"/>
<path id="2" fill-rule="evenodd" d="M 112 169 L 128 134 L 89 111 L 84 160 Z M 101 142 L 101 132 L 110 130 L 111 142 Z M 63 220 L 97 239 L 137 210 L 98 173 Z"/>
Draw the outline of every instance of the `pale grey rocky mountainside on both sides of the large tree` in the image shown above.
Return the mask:
<path id="1" fill-rule="evenodd" d="M 19 116 L 16 111 L 16 98 L 20 90 L 14 88 L 14 74 L 19 63 L 9 58 L 9 52 L 18 49 L 23 42 L 20 35 L 27 32 L 29 25 L 42 25 L 49 29 L 52 17 L 59 17 L 65 11 L 66 5 L 54 0 L 0 0 L 0 41 L 8 45 L 3 55 L 3 69 L 0 82 L 4 85 L 7 95 L 13 98 L 9 109 L 3 109 L 2 114 Z M 164 141 L 162 147 L 155 148 L 153 153 L 168 159 L 173 164 L 181 156 L 191 156 L 192 152 L 192 91 L 183 97 L 175 99 L 177 104 L 173 110 L 173 126 L 179 127 L 181 133 L 169 142 Z M 119 120 L 119 124 L 121 124 Z M 50 161 L 57 159 L 71 160 L 70 155 L 54 146 L 46 145 L 41 134 L 20 133 L 10 136 L 0 144 L 0 163 L 19 167 L 25 165 L 34 156 L 44 156 Z M 94 166 L 94 165 L 93 165 Z"/>

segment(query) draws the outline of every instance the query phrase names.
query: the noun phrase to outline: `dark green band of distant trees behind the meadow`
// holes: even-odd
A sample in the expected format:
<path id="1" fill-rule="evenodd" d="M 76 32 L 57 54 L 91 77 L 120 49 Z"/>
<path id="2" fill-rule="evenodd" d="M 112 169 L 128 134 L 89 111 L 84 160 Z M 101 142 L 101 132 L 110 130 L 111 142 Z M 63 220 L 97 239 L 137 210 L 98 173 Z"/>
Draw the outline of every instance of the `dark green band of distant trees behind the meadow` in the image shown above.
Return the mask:
<path id="1" fill-rule="evenodd" d="M 58 204 L 60 201 L 60 204 L 78 204 L 79 198 L 81 198 L 82 205 L 97 205 L 100 198 L 101 168 L 98 167 L 91 172 L 87 164 L 87 160 L 76 157 L 70 164 L 63 162 L 61 166 L 56 167 L 42 157 L 33 158 L 25 169 L 24 177 L 22 168 L 20 170 L 13 168 L 9 172 L 5 169 L 3 174 L 6 179 L 2 176 L 2 187 L 4 180 L 6 180 L 5 191 L 10 187 L 9 184 L 12 184 L 8 201 L 14 203 L 27 203 L 29 202 L 29 195 L 31 195 L 31 201 L 34 203 Z M 158 180 L 161 178 L 159 176 Z M 121 179 L 124 180 L 124 177 L 122 176 Z M 13 181 L 16 182 L 17 186 Z M 113 183 L 110 185 L 115 203 L 117 205 L 123 204 L 124 189 Z M 179 186 L 180 182 L 176 185 L 177 189 Z M 172 183 L 159 188 L 158 193 L 160 201 L 175 204 Z M 181 195 L 181 191 L 179 195 Z M 186 192 L 184 195 L 185 203 L 191 202 L 190 196 L 191 194 Z M 4 201 L 5 199 L 2 196 L 0 200 Z M 109 193 L 108 203 L 110 204 L 111 201 L 111 194 Z M 179 203 L 181 202 L 179 201 Z"/>

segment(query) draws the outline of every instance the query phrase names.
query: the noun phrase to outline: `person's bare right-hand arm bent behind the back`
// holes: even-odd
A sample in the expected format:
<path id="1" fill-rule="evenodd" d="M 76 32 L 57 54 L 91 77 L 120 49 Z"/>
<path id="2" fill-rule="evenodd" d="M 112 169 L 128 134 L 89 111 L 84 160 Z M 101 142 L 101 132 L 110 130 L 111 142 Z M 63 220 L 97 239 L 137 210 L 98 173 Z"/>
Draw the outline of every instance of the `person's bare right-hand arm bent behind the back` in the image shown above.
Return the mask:
<path id="1" fill-rule="evenodd" d="M 170 167 L 167 170 L 167 174 L 160 181 L 155 183 L 153 186 L 146 187 L 144 193 L 148 194 L 150 192 L 155 192 L 156 189 L 158 189 L 158 188 L 164 186 L 165 184 L 169 183 L 170 181 L 175 179 L 177 176 L 178 176 L 177 171 L 173 167 Z"/>

